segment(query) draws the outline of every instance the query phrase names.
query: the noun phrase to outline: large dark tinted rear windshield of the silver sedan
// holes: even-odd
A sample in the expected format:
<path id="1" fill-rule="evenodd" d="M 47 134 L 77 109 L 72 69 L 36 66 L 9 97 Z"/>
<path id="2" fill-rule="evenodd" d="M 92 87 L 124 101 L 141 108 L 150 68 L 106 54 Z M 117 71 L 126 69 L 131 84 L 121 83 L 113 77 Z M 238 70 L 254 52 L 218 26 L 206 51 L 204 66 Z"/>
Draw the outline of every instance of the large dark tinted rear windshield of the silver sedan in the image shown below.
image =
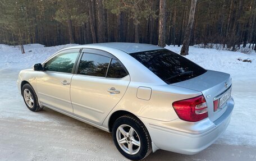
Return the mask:
<path id="1" fill-rule="evenodd" d="M 189 59 L 167 49 L 131 53 L 130 55 L 167 84 L 185 81 L 207 71 Z"/>

